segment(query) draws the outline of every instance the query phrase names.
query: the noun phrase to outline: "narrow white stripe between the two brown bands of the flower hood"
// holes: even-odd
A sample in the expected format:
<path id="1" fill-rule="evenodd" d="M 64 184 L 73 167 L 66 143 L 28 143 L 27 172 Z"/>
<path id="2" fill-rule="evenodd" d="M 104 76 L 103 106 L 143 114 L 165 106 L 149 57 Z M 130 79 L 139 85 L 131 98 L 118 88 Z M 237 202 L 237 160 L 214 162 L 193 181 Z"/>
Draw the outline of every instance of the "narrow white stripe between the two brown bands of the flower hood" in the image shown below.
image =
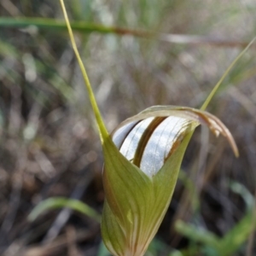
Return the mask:
<path id="1" fill-rule="evenodd" d="M 148 125 L 154 118 L 144 119 L 132 129 L 132 131 L 125 138 L 124 143 L 120 148 L 120 153 L 124 154 L 127 160 L 133 160 L 137 145 L 143 136 L 143 132 L 148 128 Z"/>

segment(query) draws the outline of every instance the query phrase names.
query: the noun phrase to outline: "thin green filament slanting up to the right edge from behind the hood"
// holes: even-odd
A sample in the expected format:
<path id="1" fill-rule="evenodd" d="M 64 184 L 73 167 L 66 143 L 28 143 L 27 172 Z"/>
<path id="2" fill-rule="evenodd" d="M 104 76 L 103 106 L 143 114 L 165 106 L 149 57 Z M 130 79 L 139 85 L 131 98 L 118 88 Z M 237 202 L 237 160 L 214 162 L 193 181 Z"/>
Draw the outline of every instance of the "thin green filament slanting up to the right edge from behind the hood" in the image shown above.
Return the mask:
<path id="1" fill-rule="evenodd" d="M 209 96 L 207 96 L 206 101 L 202 104 L 201 106 L 201 110 L 206 110 L 207 106 L 209 105 L 209 103 L 212 101 L 212 97 L 216 94 L 220 84 L 223 82 L 223 80 L 225 79 L 225 77 L 228 75 L 228 73 L 230 72 L 231 68 L 235 66 L 236 62 L 241 58 L 242 55 L 245 54 L 245 52 L 247 51 L 247 49 L 250 48 L 250 46 L 253 44 L 253 42 L 255 41 L 256 37 L 253 38 L 253 40 L 247 45 L 247 47 L 245 49 L 243 49 L 241 51 L 241 53 L 236 57 L 236 59 L 234 61 L 232 61 L 232 63 L 230 64 L 230 67 L 228 67 L 226 69 L 226 71 L 224 72 L 223 76 L 221 77 L 221 79 L 219 79 L 218 83 L 214 86 L 214 88 L 212 89 L 211 93 L 209 94 Z"/>

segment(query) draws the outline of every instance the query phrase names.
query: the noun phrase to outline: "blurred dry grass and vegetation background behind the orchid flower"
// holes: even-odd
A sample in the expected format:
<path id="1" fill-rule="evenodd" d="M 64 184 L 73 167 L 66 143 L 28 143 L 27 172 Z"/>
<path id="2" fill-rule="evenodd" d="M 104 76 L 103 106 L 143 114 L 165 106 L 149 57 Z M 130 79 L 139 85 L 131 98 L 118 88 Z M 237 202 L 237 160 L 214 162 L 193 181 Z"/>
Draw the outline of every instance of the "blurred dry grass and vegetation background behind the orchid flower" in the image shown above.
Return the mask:
<path id="1" fill-rule="evenodd" d="M 253 0 L 66 4 L 108 131 L 152 105 L 200 108 L 256 35 Z M 60 3 L 2 0 L 0 16 L 0 255 L 108 255 L 93 218 L 62 209 L 27 220 L 52 196 L 99 213 L 104 200 L 101 144 Z M 256 254 L 255 47 L 208 108 L 240 158 L 195 132 L 148 256 Z"/>

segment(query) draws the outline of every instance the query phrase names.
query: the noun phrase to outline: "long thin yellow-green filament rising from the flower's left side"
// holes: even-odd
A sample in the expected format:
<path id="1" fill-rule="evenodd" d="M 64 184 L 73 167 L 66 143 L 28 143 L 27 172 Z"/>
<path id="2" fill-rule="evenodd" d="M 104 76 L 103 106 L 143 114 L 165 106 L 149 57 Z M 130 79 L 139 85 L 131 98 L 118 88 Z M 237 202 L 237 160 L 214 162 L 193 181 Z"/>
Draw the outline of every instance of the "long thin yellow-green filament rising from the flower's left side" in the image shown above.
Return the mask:
<path id="1" fill-rule="evenodd" d="M 90 80 L 89 80 L 88 75 L 86 73 L 84 63 L 83 63 L 83 61 L 82 61 L 82 59 L 79 55 L 79 50 L 78 50 L 77 44 L 74 40 L 73 31 L 72 31 L 72 28 L 70 26 L 70 23 L 69 23 L 69 20 L 68 20 L 68 17 L 67 17 L 67 11 L 66 11 L 66 8 L 65 8 L 65 4 L 64 4 L 63 0 L 60 0 L 60 1 L 61 1 L 61 8 L 62 8 L 62 11 L 63 11 L 63 15 L 64 15 L 66 23 L 67 23 L 67 30 L 68 30 L 68 33 L 69 33 L 71 44 L 73 46 L 73 51 L 74 51 L 74 53 L 75 53 L 75 55 L 76 55 L 76 57 L 79 61 L 79 67 L 81 69 L 81 72 L 82 72 L 82 75 L 83 75 L 83 78 L 84 78 L 85 87 L 88 90 L 90 103 L 91 103 L 93 112 L 96 116 L 96 123 L 97 123 L 98 130 L 99 130 L 99 133 L 100 133 L 101 141 L 103 143 L 104 139 L 106 137 L 108 137 L 108 131 L 107 131 L 107 128 L 106 128 L 106 126 L 105 126 L 105 124 L 102 120 L 102 115 L 101 115 L 100 110 L 98 108 L 93 90 L 91 89 Z"/>

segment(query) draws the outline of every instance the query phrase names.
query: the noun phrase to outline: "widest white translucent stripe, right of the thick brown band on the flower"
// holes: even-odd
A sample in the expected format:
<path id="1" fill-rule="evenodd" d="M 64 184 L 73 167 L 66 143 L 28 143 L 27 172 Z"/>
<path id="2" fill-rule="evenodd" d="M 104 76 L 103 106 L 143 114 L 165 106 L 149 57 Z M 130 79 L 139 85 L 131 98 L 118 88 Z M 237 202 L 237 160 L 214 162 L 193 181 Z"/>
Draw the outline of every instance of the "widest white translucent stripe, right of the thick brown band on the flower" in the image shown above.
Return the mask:
<path id="1" fill-rule="evenodd" d="M 168 117 L 154 130 L 144 148 L 140 169 L 153 176 L 164 165 L 172 150 L 173 144 L 188 128 L 189 120 L 177 117 Z"/>

